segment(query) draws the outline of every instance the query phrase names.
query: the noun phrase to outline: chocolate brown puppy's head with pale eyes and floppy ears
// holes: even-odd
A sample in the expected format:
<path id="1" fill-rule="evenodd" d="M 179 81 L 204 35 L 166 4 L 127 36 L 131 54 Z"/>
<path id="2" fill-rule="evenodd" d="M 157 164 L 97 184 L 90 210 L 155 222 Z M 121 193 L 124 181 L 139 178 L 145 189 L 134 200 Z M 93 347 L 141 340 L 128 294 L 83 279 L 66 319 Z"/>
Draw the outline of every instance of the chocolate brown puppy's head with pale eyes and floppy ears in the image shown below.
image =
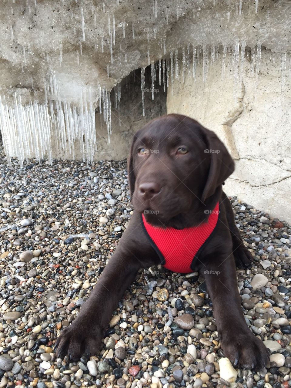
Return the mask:
<path id="1" fill-rule="evenodd" d="M 234 162 L 214 132 L 169 114 L 134 135 L 127 167 L 135 210 L 153 224 L 175 225 L 181 215 L 211 202 Z"/>

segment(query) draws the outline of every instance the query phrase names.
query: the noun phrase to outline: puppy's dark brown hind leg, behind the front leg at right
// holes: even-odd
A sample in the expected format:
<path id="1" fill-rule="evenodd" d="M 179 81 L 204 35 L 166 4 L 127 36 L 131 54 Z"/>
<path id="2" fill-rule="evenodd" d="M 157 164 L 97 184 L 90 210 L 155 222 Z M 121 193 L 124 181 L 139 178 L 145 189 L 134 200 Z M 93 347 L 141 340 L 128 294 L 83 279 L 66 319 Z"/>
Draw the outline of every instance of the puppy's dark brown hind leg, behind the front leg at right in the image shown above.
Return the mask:
<path id="1" fill-rule="evenodd" d="M 243 243 L 243 239 L 239 234 L 239 230 L 234 222 L 234 213 L 232 210 L 231 203 L 224 192 L 222 193 L 222 202 L 225 206 L 226 218 L 229 230 L 231 232 L 232 252 L 234 255 L 234 260 L 236 262 L 236 267 L 249 268 L 253 263 L 253 256 Z"/>

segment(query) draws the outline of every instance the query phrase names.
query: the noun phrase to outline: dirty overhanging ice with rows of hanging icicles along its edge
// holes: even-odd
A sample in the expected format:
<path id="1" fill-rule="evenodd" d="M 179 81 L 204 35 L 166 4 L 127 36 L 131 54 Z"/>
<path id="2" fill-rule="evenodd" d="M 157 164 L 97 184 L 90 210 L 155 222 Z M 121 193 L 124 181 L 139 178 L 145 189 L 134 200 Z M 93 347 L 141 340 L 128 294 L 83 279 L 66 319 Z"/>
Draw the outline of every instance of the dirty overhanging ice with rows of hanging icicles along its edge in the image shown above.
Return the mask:
<path id="1" fill-rule="evenodd" d="M 6 0 L 1 8 L 0 128 L 8 160 L 21 163 L 76 150 L 92 161 L 95 114 L 110 140 L 111 106 L 134 69 L 143 114 L 146 66 L 153 99 L 155 85 L 165 90 L 186 72 L 195 79 L 198 64 L 206 80 L 220 61 L 222 77 L 231 70 L 238 83 L 250 61 L 256 80 L 265 49 L 281 54 L 282 87 L 291 71 L 289 0 Z"/>

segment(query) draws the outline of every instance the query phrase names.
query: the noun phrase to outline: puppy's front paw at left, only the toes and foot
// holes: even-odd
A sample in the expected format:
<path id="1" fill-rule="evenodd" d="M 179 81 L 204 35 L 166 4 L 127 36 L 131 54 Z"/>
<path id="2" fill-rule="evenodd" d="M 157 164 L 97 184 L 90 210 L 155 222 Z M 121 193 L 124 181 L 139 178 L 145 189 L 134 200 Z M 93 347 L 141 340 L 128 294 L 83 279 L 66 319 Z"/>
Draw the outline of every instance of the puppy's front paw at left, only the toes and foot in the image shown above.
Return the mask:
<path id="1" fill-rule="evenodd" d="M 57 357 L 64 359 L 67 355 L 71 361 L 80 360 L 83 354 L 88 357 L 100 350 L 102 332 L 90 324 L 71 324 L 60 334 L 55 343 Z"/>

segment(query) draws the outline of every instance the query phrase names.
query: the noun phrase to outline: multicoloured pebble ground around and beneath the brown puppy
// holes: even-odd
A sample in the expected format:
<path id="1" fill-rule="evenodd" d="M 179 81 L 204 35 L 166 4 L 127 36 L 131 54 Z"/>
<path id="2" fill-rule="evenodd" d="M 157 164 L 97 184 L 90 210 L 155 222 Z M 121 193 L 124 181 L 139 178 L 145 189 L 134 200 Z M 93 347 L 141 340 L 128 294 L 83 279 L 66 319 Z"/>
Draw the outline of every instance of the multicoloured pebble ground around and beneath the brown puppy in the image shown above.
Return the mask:
<path id="1" fill-rule="evenodd" d="M 69 363 L 55 358 L 55 339 L 127 227 L 126 163 L 31 160 L 8 168 L 2 152 L 0 182 L 0 387 L 291 386 L 291 229 L 284 221 L 231 199 L 255 255 L 253 268 L 237 271 L 242 305 L 272 353 L 269 369 L 234 370 L 220 350 L 203 278 L 159 267 L 141 271 L 126 292 L 100 355 Z"/>

